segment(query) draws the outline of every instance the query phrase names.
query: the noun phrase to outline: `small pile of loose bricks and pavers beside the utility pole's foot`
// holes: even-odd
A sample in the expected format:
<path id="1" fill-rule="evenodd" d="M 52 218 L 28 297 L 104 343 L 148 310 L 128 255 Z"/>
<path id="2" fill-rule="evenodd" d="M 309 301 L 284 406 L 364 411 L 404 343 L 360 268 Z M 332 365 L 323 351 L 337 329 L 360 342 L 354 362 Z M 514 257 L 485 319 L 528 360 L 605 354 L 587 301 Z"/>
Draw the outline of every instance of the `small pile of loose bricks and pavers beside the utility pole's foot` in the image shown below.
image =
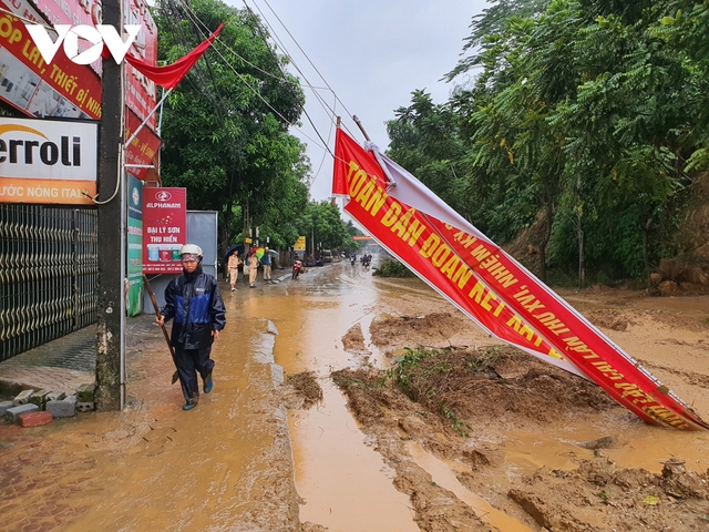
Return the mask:
<path id="1" fill-rule="evenodd" d="M 22 390 L 11 401 L 0 402 L 0 417 L 20 427 L 39 427 L 54 418 L 70 418 L 80 412 L 94 410 L 95 385 L 81 385 L 76 395 L 63 391 Z"/>

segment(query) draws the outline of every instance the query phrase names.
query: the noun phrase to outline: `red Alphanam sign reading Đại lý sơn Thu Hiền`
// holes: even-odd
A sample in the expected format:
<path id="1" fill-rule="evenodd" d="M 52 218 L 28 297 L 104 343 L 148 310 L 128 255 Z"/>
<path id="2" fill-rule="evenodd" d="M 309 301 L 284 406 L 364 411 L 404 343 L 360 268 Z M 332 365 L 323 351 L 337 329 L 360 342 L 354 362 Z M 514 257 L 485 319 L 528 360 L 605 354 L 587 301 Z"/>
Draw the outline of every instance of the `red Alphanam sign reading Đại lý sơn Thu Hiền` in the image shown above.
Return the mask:
<path id="1" fill-rule="evenodd" d="M 181 274 L 187 243 L 187 190 L 143 188 L 143 272 Z"/>

